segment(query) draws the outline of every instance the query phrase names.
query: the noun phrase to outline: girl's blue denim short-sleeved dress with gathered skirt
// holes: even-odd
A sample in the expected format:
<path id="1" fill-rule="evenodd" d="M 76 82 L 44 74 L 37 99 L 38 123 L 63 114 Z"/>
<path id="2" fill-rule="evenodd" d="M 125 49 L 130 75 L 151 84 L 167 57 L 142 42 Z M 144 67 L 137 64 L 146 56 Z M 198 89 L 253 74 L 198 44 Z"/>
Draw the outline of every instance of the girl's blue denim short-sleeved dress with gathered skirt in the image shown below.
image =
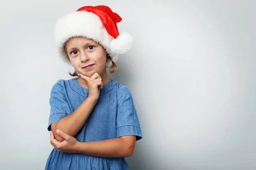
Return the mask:
<path id="1" fill-rule="evenodd" d="M 88 96 L 76 78 L 58 80 L 53 85 L 48 130 L 51 124 L 73 113 Z M 130 91 L 111 79 L 100 89 L 99 99 L 75 138 L 80 142 L 100 141 L 135 135 L 142 138 L 140 123 Z M 102 158 L 79 153 L 64 153 L 53 148 L 45 170 L 128 170 L 125 158 Z"/>

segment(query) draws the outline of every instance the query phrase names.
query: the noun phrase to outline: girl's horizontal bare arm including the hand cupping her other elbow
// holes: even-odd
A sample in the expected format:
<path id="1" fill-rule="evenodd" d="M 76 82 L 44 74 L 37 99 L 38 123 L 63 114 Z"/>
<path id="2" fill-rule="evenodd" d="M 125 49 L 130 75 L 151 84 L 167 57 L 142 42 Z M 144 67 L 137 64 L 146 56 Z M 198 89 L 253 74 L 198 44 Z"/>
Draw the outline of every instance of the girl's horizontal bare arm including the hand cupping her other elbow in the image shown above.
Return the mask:
<path id="1" fill-rule="evenodd" d="M 107 158 L 131 156 L 136 142 L 136 136 L 134 135 L 102 141 L 78 142 L 76 138 L 64 133 L 62 130 L 58 130 L 58 134 L 65 139 L 63 142 L 57 141 L 52 131 L 50 131 L 51 144 L 60 152 L 82 153 Z"/>

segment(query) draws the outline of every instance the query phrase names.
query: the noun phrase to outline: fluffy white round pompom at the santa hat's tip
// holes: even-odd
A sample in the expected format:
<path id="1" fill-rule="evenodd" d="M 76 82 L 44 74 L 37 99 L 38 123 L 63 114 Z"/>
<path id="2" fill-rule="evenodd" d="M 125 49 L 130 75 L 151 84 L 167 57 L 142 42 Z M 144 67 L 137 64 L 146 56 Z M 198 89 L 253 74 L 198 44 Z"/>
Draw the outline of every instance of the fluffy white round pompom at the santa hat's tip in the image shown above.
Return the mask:
<path id="1" fill-rule="evenodd" d="M 125 54 L 130 51 L 133 42 L 133 37 L 128 32 L 123 32 L 111 41 L 111 52 L 117 55 Z"/>

